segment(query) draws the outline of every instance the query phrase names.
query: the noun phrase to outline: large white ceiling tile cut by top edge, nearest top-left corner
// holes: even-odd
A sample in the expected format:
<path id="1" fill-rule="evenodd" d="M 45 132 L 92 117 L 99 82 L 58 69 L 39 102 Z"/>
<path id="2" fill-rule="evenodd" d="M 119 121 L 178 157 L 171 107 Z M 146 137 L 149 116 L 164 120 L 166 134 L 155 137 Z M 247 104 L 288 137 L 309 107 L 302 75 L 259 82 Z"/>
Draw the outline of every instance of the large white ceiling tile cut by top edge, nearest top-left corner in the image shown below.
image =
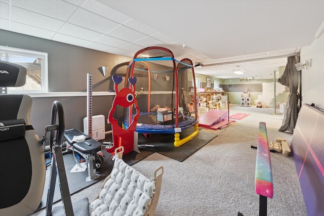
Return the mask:
<path id="1" fill-rule="evenodd" d="M 66 21 L 77 9 L 76 6 L 63 1 L 12 0 L 11 4 L 62 21 Z"/>

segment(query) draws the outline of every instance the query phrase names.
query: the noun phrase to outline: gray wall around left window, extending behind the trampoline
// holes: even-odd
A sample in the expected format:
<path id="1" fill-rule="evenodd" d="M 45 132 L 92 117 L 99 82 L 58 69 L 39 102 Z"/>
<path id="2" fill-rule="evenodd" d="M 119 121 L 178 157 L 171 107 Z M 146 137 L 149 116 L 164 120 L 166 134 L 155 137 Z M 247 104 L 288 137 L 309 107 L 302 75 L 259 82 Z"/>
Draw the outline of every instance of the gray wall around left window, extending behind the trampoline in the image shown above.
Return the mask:
<path id="1" fill-rule="evenodd" d="M 111 79 L 113 74 L 125 77 L 127 65 L 132 60 L 127 57 L 76 47 L 61 42 L 33 37 L 0 29 L 0 45 L 13 48 L 48 53 L 49 92 L 86 92 L 87 73 L 93 73 L 93 92 L 108 92 L 114 90 Z M 148 63 L 151 70 L 170 70 L 161 65 Z M 106 77 L 98 71 L 98 67 L 109 67 Z M 170 81 L 165 80 L 169 75 Z M 136 89 L 148 90 L 147 74 L 135 74 L 138 81 Z M 153 75 L 151 74 L 153 77 Z M 124 79 L 125 80 L 125 79 Z M 124 85 L 119 85 L 122 88 Z M 170 73 L 158 73 L 155 81 L 151 79 L 151 91 L 172 91 L 173 79 Z M 31 95 L 31 97 L 33 97 Z M 111 109 L 113 95 L 93 96 L 93 115 L 104 115 L 105 119 Z M 76 128 L 83 131 L 83 118 L 87 116 L 87 97 L 33 97 L 30 121 L 39 137 L 45 133 L 45 126 L 50 124 L 51 108 L 54 101 L 60 101 L 64 108 L 65 128 Z M 161 101 L 161 96 L 152 99 L 152 106 Z M 170 102 L 170 98 L 165 100 Z M 142 104 L 142 103 L 139 103 Z M 168 106 L 168 105 L 167 105 Z M 123 111 L 117 109 L 115 115 L 123 116 Z M 116 117 L 117 117 L 116 116 Z M 106 122 L 106 131 L 111 126 Z"/>

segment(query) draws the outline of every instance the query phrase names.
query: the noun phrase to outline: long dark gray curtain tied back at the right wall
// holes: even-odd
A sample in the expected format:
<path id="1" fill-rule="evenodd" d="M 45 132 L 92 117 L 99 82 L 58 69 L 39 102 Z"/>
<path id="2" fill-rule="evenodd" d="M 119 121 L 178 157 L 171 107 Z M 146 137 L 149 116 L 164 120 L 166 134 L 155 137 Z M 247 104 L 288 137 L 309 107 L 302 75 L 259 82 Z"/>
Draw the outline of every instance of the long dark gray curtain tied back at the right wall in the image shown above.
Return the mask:
<path id="1" fill-rule="evenodd" d="M 278 79 L 278 82 L 286 85 L 289 88 L 289 96 L 287 100 L 287 106 L 285 110 L 285 116 L 282 120 L 281 127 L 278 129 L 280 132 L 289 131 L 294 132 L 294 128 L 297 121 L 299 112 L 298 108 L 298 81 L 299 74 L 295 67 L 295 64 L 299 62 L 299 56 L 288 57 L 286 69 L 284 74 Z"/>

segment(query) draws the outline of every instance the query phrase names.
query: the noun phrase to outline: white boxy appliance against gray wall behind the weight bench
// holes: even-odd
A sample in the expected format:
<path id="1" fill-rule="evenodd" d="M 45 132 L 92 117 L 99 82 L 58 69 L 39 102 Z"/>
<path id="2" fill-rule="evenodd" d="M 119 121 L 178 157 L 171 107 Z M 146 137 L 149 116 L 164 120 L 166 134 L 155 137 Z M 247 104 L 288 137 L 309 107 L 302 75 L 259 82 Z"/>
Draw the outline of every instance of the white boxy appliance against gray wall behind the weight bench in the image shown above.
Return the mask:
<path id="1" fill-rule="evenodd" d="M 84 133 L 89 135 L 88 129 L 88 117 L 83 119 Z M 89 135 L 95 140 L 104 140 L 105 135 L 105 116 L 104 115 L 94 115 L 92 116 L 92 135 Z"/>

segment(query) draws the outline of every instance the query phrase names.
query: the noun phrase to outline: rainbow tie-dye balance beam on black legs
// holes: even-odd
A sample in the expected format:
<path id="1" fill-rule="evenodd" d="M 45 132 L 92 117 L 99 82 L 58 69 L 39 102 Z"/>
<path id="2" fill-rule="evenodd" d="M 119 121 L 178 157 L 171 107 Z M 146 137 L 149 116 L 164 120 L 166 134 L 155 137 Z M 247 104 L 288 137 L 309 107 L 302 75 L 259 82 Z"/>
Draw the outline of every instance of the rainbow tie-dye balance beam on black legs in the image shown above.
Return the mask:
<path id="1" fill-rule="evenodd" d="M 255 191 L 260 195 L 259 215 L 267 215 L 267 197 L 273 196 L 273 180 L 269 142 L 265 122 L 259 123 Z"/>

